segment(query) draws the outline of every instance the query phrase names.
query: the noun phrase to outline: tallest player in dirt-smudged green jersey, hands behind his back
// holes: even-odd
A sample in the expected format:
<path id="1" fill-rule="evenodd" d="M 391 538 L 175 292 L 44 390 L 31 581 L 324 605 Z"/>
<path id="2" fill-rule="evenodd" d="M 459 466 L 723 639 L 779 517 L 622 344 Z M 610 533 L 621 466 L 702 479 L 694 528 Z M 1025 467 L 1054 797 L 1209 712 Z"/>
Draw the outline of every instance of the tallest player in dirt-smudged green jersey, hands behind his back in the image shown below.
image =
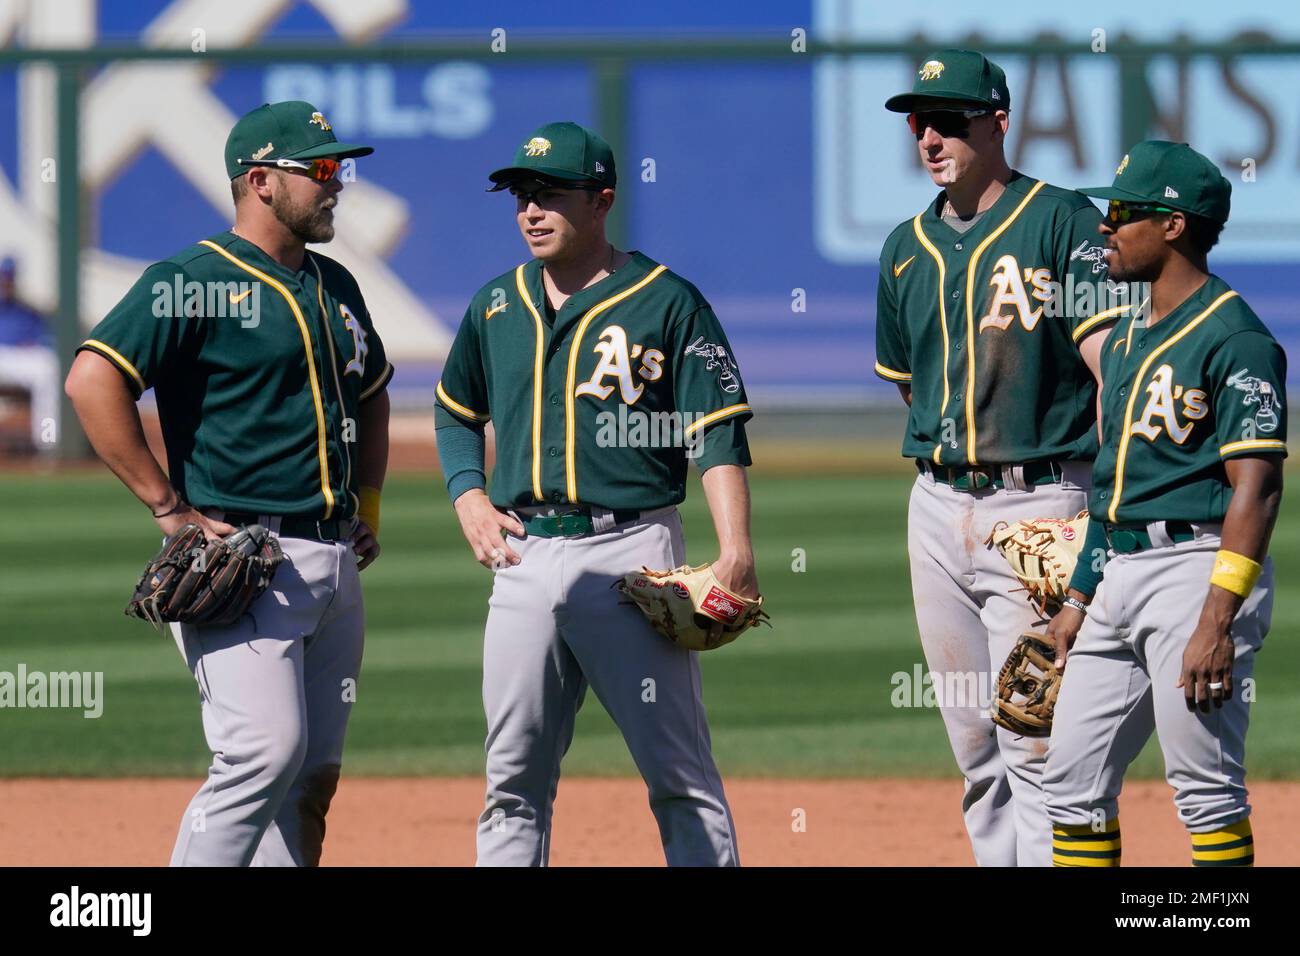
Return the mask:
<path id="1" fill-rule="evenodd" d="M 1045 741 L 998 728 L 992 685 L 1041 618 L 985 537 L 997 522 L 1072 518 L 1096 451 L 1097 356 L 1113 312 L 1087 198 L 1013 170 L 1011 98 L 983 55 L 927 57 L 907 113 L 941 191 L 880 252 L 876 373 L 910 406 L 909 557 L 916 626 L 980 865 L 1048 865 Z M 1062 291 L 1062 289 L 1065 291 Z"/>

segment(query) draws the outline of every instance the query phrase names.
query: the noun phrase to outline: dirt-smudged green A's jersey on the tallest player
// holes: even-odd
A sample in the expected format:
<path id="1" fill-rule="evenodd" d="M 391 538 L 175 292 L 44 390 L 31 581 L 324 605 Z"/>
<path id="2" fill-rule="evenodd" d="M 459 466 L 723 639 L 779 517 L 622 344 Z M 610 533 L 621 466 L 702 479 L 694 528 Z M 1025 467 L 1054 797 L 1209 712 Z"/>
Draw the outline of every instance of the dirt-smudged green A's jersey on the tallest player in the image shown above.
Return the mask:
<path id="1" fill-rule="evenodd" d="M 1079 193 L 1013 173 L 958 233 L 941 219 L 945 198 L 880 251 L 876 373 L 911 386 L 904 457 L 1092 458 L 1096 386 L 1078 343 L 1119 311 L 1106 297 L 1101 213 Z"/>

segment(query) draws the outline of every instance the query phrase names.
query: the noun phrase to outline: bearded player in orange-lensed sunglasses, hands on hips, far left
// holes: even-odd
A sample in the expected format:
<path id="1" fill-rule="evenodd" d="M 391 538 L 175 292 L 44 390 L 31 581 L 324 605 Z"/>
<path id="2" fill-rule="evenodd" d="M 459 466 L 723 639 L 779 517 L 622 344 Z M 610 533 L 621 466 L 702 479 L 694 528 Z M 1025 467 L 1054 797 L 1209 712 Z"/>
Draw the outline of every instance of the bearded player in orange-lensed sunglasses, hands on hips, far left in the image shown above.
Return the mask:
<path id="1" fill-rule="evenodd" d="M 361 666 L 358 572 L 378 555 L 393 375 L 334 235 L 339 143 L 302 101 L 235 124 L 234 229 L 155 263 L 68 376 L 86 434 L 164 535 L 259 523 L 285 562 L 229 627 L 172 624 L 199 684 L 208 778 L 174 866 L 315 865 Z M 135 401 L 153 388 L 166 472 Z"/>

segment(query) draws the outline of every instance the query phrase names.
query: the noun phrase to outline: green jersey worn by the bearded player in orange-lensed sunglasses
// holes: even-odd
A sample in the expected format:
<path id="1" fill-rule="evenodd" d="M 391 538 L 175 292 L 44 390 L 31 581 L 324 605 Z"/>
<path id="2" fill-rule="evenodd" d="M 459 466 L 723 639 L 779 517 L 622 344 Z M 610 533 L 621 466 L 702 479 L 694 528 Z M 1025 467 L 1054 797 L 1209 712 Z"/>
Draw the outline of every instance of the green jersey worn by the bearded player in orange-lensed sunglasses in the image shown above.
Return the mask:
<path id="1" fill-rule="evenodd" d="M 220 233 L 155 263 L 79 346 L 157 395 L 168 472 L 195 507 L 350 518 L 356 416 L 393 376 L 356 280 Z"/>

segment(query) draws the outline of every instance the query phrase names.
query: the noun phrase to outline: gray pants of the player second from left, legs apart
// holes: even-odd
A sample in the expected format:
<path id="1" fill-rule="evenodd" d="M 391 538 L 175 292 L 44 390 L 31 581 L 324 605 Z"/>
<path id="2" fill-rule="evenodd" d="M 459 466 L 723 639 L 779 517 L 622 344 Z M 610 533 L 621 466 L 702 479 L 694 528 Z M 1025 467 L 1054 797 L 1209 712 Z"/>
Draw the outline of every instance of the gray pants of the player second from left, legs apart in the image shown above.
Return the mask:
<path id="1" fill-rule="evenodd" d="M 673 646 L 610 587 L 642 566 L 685 561 L 676 509 L 581 537 L 510 545 L 521 561 L 495 572 L 484 635 L 478 865 L 546 865 L 560 760 L 589 684 L 646 782 L 668 865 L 738 865 L 696 652 Z"/>

